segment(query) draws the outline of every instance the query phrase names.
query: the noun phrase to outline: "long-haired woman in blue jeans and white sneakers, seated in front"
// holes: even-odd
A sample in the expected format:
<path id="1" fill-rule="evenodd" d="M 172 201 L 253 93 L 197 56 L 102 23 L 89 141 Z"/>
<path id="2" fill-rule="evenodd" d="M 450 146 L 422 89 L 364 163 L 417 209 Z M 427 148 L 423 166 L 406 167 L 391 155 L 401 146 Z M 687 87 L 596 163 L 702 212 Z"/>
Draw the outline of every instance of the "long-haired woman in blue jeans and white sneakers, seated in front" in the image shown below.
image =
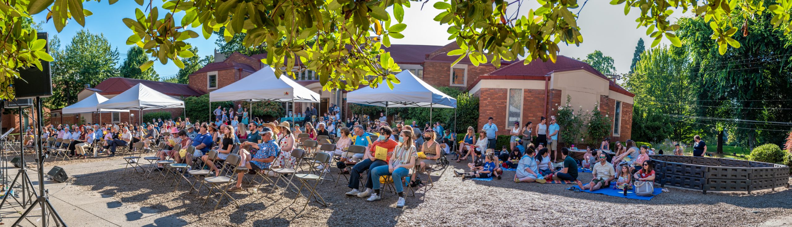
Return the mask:
<path id="1" fill-rule="evenodd" d="M 415 146 L 413 146 L 413 131 L 402 131 L 398 136 L 398 141 L 398 146 L 394 148 L 393 153 L 390 153 L 388 165 L 380 165 L 371 169 L 371 176 L 373 176 L 372 179 L 374 179 L 374 193 L 371 194 L 371 197 L 366 199 L 366 201 L 374 202 L 381 199 L 379 197 L 379 195 L 381 195 L 379 194 L 379 177 L 390 175 L 394 181 L 396 193 L 398 193 L 396 207 L 404 206 L 404 183 L 402 183 L 402 177 L 407 176 L 407 174 L 409 174 L 409 169 L 413 168 L 416 164 L 418 154 Z"/>

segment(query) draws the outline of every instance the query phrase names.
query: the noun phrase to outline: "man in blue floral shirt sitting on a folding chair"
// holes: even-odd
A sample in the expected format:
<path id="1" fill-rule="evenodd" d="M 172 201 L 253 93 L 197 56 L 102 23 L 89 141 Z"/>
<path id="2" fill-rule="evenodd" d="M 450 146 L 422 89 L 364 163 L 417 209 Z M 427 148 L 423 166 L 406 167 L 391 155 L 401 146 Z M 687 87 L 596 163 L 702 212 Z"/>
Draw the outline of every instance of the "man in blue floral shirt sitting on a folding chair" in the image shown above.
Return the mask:
<path id="1" fill-rule="evenodd" d="M 257 149 L 256 152 L 253 153 L 253 157 L 249 158 L 250 161 L 244 163 L 244 166 L 249 166 L 248 168 L 253 171 L 268 169 L 269 166 L 272 165 L 272 162 L 275 161 L 275 157 L 280 150 L 280 146 L 275 142 L 275 139 L 272 139 L 271 128 L 261 127 L 258 134 L 261 134 L 261 143 L 245 142 L 245 144 L 242 144 L 242 146 L 249 145 L 252 149 Z M 229 188 L 228 191 L 242 191 L 242 178 L 244 176 L 245 172 L 239 172 L 237 176 L 237 185 Z"/>

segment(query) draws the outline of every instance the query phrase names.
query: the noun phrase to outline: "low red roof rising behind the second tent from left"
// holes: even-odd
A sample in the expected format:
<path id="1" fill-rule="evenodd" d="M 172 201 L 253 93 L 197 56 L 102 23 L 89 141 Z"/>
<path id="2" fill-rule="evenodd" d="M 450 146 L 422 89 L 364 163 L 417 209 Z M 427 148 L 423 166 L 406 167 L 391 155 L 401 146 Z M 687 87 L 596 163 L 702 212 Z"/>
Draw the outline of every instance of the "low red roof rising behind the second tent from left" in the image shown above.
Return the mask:
<path id="1" fill-rule="evenodd" d="M 191 89 L 188 85 L 162 81 L 147 81 L 132 78 L 107 78 L 93 89 L 101 90 L 102 95 L 120 94 L 131 87 L 143 83 L 151 89 L 169 96 L 201 96 L 204 93 Z"/>

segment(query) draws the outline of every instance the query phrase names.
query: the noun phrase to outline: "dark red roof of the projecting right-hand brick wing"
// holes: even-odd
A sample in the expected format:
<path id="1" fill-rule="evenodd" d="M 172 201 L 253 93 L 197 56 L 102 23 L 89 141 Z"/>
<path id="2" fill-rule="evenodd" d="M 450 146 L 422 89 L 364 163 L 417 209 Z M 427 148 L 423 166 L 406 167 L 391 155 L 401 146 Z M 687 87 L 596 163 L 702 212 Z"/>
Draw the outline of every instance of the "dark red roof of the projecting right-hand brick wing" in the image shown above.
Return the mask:
<path id="1" fill-rule="evenodd" d="M 594 67 L 588 65 L 586 62 L 582 62 L 577 59 L 569 58 L 564 55 L 558 55 L 558 58 L 554 62 L 543 62 L 542 59 L 535 59 L 528 63 L 527 65 L 522 64 L 522 62 L 517 62 L 516 64 L 511 64 L 508 66 L 501 67 L 498 70 L 494 70 L 489 74 L 482 75 L 480 79 L 539 79 L 543 80 L 543 78 L 547 74 L 551 74 L 554 72 L 562 72 L 562 71 L 569 71 L 569 70 L 586 70 L 589 73 L 595 74 L 600 78 L 604 78 L 609 83 L 609 89 L 615 91 L 617 93 L 622 93 L 626 96 L 635 96 L 635 94 L 628 92 L 619 84 L 616 84 L 615 81 L 607 78 L 604 74 L 600 73 L 600 71 L 594 69 Z M 478 81 L 477 81 L 478 82 Z M 475 84 L 475 82 L 474 82 Z"/>

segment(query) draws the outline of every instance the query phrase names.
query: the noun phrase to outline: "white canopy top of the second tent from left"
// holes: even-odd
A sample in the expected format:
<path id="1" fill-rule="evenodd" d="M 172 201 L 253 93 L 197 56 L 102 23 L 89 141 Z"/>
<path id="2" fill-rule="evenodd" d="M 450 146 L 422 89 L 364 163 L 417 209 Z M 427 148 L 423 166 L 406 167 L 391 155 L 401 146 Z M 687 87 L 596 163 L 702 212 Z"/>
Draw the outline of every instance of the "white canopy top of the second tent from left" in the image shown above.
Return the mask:
<path id="1" fill-rule="evenodd" d="M 137 84 L 131 89 L 112 97 L 97 105 L 98 108 L 112 109 L 164 109 L 184 108 L 185 102 L 160 93 L 143 84 Z"/>

